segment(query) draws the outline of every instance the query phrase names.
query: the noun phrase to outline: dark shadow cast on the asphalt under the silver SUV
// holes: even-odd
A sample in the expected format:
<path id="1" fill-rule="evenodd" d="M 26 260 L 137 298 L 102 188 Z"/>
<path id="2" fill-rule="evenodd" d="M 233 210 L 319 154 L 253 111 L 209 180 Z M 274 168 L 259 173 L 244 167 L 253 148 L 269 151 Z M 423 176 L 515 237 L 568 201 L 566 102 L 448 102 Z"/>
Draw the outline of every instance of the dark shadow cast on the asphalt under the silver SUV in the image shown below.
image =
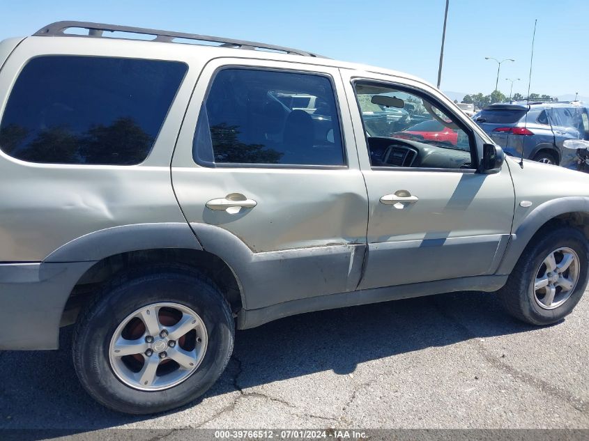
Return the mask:
<path id="1" fill-rule="evenodd" d="M 489 293 L 443 294 L 284 318 L 238 331 L 227 371 L 204 397 L 181 410 L 234 392 L 236 384 L 246 389 L 320 371 L 344 375 L 374 359 L 534 329 L 507 316 Z M 84 432 L 153 418 L 121 415 L 95 403 L 72 367 L 71 330 L 62 331 L 59 351 L 0 353 L 0 368 L 10 373 L 0 380 L 0 428 Z"/>

